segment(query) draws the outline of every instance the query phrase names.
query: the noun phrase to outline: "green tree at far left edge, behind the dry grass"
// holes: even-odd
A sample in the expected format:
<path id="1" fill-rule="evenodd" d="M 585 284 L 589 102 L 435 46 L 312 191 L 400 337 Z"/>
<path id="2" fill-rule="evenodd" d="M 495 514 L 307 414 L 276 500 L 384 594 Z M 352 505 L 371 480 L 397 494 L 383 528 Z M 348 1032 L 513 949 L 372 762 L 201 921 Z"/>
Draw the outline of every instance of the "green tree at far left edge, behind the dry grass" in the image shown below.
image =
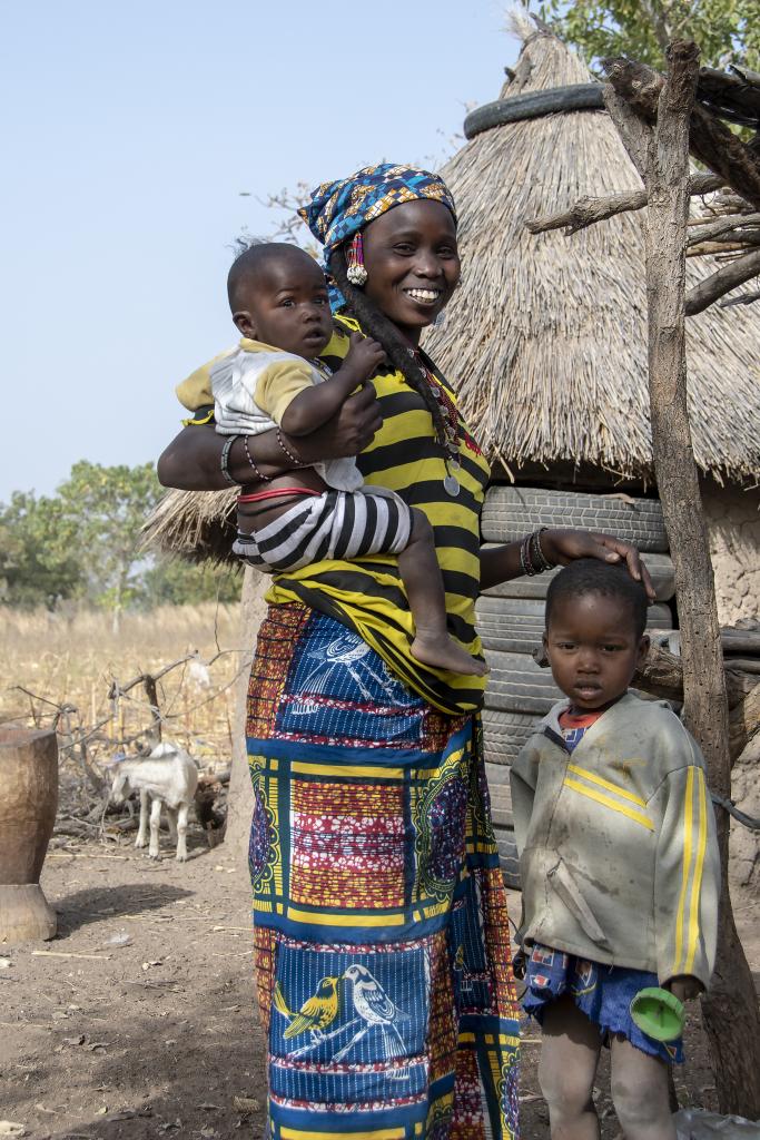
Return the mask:
<path id="1" fill-rule="evenodd" d="M 73 546 L 51 542 L 60 526 L 57 499 L 14 491 L 0 504 L 0 602 L 23 609 L 52 609 L 85 588 L 85 576 Z"/>

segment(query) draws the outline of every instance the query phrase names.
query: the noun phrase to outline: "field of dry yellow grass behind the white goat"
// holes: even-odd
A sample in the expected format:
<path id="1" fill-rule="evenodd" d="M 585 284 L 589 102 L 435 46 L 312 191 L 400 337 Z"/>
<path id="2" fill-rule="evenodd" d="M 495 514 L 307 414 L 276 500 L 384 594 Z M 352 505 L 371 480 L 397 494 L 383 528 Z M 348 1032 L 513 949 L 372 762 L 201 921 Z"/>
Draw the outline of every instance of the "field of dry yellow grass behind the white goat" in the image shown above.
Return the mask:
<path id="1" fill-rule="evenodd" d="M 144 684 L 126 693 L 115 686 L 197 652 L 157 683 L 163 733 L 204 767 L 222 767 L 231 756 L 235 679 L 251 653 L 239 616 L 238 605 L 212 602 L 163 606 L 126 613 L 114 633 L 101 611 L 0 608 L 0 723 L 47 726 L 58 714 L 64 738 L 68 728 L 76 735 L 100 725 L 88 749 L 101 767 L 114 754 L 134 750 L 133 738 L 152 723 Z M 59 715 L 62 707 L 71 707 L 67 716 Z"/>

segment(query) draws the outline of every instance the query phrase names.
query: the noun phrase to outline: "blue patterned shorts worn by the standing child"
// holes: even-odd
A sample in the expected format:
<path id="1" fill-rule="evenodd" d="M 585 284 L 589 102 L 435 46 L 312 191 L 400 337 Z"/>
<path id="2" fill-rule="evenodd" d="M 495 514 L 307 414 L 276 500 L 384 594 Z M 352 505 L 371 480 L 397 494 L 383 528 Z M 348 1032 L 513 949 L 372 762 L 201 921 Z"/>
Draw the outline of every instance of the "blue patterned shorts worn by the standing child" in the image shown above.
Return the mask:
<path id="1" fill-rule="evenodd" d="M 570 994 L 581 1013 L 598 1025 L 603 1041 L 607 1042 L 613 1033 L 621 1033 L 643 1053 L 672 1065 L 684 1060 L 683 1037 L 655 1041 L 639 1029 L 630 1012 L 631 1001 L 639 990 L 656 985 L 656 974 L 588 962 L 537 944 L 528 960 L 522 1003 L 525 1012 L 540 1025 L 547 1005 L 562 994 Z"/>

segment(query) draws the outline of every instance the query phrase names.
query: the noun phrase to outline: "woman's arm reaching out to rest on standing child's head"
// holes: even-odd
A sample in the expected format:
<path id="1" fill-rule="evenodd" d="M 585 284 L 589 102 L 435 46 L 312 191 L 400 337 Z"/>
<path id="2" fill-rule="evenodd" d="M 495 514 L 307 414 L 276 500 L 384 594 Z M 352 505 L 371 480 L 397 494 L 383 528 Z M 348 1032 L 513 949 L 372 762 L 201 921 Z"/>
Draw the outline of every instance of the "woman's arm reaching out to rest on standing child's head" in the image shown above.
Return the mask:
<path id="1" fill-rule="evenodd" d="M 481 548 L 481 589 L 490 589 L 499 583 L 521 577 L 523 572 L 520 563 L 521 545 L 521 543 L 507 543 L 506 546 Z M 630 543 L 623 543 L 610 535 L 598 535 L 591 530 L 547 529 L 541 532 L 541 549 L 547 560 L 555 565 L 566 565 L 573 559 L 602 559 L 613 564 L 624 562 L 631 578 L 644 583 L 649 601 L 654 601 L 652 579 L 641 563 L 638 551 Z"/>

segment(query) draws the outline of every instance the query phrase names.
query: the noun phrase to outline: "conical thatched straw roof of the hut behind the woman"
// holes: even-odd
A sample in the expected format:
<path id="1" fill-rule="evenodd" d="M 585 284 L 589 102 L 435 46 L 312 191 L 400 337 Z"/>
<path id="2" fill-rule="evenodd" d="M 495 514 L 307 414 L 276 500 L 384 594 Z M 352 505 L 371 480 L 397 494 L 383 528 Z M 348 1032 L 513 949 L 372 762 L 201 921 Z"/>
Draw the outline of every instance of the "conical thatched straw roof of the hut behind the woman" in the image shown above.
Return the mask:
<path id="1" fill-rule="evenodd" d="M 589 73 L 555 36 L 526 39 L 500 98 Z M 456 382 L 489 458 L 651 473 L 644 212 L 572 237 L 526 219 L 585 194 L 640 189 L 605 111 L 510 122 L 475 136 L 443 170 L 459 213 L 465 280 L 425 348 Z M 688 282 L 716 262 L 687 264 Z M 760 303 L 688 319 L 694 450 L 718 478 L 760 472 Z"/>

